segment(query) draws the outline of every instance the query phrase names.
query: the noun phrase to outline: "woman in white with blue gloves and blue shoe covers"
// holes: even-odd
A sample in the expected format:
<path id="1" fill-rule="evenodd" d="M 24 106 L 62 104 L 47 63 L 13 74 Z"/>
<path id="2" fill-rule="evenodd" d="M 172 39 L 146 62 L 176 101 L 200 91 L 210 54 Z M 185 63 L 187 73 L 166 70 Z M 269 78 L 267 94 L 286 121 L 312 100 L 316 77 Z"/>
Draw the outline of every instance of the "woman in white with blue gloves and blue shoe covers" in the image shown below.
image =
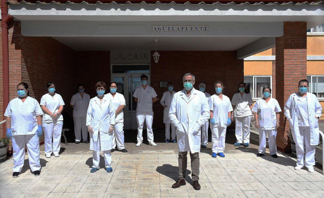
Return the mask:
<path id="1" fill-rule="evenodd" d="M 216 93 L 209 98 L 210 129 L 212 130 L 212 157 L 225 157 L 226 128 L 232 123 L 233 111 L 230 99 L 223 95 L 224 85 L 221 81 L 214 84 Z"/>

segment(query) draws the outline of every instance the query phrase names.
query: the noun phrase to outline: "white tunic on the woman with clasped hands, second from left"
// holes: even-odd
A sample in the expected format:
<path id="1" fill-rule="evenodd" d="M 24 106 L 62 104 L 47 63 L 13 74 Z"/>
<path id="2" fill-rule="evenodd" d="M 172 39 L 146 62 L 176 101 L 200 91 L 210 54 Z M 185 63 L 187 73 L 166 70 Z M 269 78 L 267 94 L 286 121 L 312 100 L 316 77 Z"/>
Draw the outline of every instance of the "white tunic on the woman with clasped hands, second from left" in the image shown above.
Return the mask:
<path id="1" fill-rule="evenodd" d="M 41 97 L 40 105 L 44 105 L 46 107 L 46 109 L 48 109 L 52 113 L 54 113 L 54 112 L 56 113 L 59 110 L 60 106 L 65 105 L 65 104 L 64 104 L 64 101 L 60 94 L 55 93 L 52 97 L 49 93 L 47 93 Z M 43 122 L 50 123 L 52 121 L 53 120 L 52 120 L 51 116 L 44 113 Z M 57 119 L 57 121 L 63 121 L 62 114 L 60 114 L 60 117 Z"/>

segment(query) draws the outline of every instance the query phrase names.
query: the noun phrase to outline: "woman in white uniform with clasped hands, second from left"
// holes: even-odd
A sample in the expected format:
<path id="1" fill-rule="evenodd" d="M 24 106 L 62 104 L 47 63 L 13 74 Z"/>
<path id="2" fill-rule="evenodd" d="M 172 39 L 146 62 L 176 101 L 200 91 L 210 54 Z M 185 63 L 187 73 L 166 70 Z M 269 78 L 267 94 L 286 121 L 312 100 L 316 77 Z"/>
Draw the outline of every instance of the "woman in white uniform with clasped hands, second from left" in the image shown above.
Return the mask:
<path id="1" fill-rule="evenodd" d="M 50 158 L 52 153 L 55 157 L 60 156 L 64 102 L 62 96 L 55 93 L 54 82 L 48 82 L 47 89 L 48 93 L 41 97 L 41 109 L 44 112 L 45 157 Z"/>

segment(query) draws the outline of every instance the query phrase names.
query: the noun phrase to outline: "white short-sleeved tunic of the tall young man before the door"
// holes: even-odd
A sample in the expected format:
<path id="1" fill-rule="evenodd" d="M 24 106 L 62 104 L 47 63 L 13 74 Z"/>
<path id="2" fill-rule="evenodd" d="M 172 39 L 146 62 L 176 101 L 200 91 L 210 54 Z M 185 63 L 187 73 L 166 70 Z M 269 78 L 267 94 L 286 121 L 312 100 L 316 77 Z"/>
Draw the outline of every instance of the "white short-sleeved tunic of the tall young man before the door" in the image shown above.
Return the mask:
<path id="1" fill-rule="evenodd" d="M 152 99 L 157 96 L 153 87 L 147 86 L 145 89 L 143 86 L 139 86 L 135 89 L 133 96 L 137 98 L 136 111 L 152 112 Z"/>

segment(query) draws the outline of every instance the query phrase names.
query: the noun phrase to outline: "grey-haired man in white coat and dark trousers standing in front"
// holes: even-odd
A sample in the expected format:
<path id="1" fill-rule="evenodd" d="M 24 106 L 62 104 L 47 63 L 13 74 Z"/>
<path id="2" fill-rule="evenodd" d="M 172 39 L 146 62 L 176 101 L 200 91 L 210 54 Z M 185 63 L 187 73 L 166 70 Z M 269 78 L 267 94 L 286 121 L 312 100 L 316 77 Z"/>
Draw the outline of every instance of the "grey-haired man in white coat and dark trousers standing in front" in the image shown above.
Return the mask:
<path id="1" fill-rule="evenodd" d="M 184 89 L 174 94 L 169 110 L 169 118 L 177 128 L 179 146 L 179 179 L 172 188 L 186 185 L 187 153 L 190 151 L 193 188 L 200 190 L 198 180 L 201 127 L 207 122 L 210 112 L 205 94 L 193 88 L 195 76 L 186 73 L 182 80 Z"/>

